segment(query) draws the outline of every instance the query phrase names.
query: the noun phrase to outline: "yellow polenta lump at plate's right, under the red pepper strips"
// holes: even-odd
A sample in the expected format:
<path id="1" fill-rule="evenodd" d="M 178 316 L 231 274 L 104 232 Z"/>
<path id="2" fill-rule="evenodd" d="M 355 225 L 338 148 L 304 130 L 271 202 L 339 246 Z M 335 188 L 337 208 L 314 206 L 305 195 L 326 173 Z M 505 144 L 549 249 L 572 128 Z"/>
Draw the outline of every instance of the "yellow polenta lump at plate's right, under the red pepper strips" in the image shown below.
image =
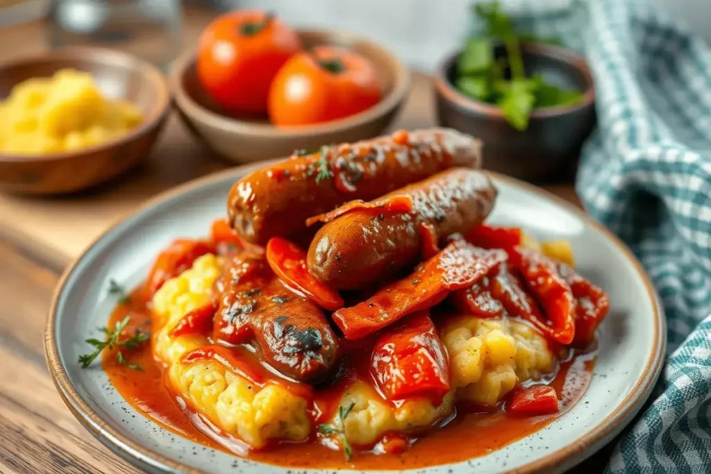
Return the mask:
<path id="1" fill-rule="evenodd" d="M 459 316 L 444 326 L 442 340 L 457 399 L 495 405 L 516 382 L 539 378 L 555 366 L 542 335 L 507 317 Z"/>

